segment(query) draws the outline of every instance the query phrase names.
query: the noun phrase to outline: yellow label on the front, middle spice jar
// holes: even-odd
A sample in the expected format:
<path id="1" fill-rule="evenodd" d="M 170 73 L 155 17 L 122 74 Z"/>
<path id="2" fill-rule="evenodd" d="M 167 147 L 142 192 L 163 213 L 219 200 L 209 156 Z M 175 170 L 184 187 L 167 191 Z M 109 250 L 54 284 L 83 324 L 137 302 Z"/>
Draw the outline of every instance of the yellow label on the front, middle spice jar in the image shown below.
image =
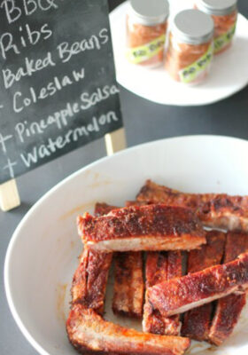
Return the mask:
<path id="1" fill-rule="evenodd" d="M 210 44 L 208 50 L 205 54 L 196 60 L 194 63 L 190 64 L 188 67 L 184 67 L 179 71 L 180 81 L 182 83 L 192 83 L 199 75 L 203 74 L 205 70 L 209 67 L 213 59 L 213 43 Z"/>

